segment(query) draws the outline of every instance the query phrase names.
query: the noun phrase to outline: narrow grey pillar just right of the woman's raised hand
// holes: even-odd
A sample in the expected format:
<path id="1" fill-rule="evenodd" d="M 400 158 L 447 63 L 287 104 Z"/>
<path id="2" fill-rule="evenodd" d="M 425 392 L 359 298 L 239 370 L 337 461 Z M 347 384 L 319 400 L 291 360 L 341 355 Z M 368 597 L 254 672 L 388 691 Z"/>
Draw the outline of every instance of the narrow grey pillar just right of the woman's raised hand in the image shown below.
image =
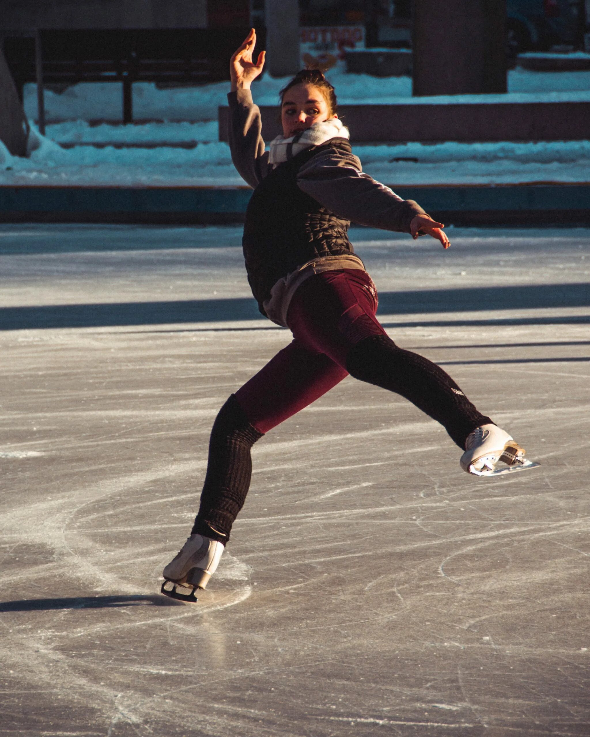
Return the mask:
<path id="1" fill-rule="evenodd" d="M 266 69 L 271 77 L 287 77 L 301 69 L 298 0 L 265 0 Z M 254 54 L 258 54 L 256 49 Z"/>

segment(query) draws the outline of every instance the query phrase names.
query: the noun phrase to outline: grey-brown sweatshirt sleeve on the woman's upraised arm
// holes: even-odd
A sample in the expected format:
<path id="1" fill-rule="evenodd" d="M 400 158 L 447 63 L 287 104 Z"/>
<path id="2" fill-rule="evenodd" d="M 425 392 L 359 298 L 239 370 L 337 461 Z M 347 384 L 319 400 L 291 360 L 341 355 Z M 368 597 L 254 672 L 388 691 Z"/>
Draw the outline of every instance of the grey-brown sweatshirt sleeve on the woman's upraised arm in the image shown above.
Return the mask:
<path id="1" fill-rule="evenodd" d="M 250 90 L 237 90 L 229 102 L 229 150 L 238 174 L 255 187 L 268 174 L 268 151 L 261 135 L 260 108 Z"/>

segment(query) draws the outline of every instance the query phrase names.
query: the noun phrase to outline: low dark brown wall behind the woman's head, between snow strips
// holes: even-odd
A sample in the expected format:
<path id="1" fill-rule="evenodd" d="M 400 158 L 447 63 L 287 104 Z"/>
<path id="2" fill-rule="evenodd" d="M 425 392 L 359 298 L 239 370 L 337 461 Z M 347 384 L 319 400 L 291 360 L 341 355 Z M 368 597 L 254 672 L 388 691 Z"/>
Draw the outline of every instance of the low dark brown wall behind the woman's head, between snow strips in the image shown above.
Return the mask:
<path id="1" fill-rule="evenodd" d="M 262 105 L 265 138 L 282 135 L 277 106 Z M 339 105 L 355 143 L 584 141 L 590 102 L 468 102 L 450 105 Z M 228 140 L 229 108 L 218 108 L 219 140 Z"/>

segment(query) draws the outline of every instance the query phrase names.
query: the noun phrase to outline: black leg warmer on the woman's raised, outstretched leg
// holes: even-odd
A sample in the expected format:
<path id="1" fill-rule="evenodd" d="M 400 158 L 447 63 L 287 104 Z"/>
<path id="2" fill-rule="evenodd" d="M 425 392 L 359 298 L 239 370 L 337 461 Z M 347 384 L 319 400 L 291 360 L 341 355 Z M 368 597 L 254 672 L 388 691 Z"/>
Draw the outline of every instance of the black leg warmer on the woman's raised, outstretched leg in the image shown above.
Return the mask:
<path id="1" fill-rule="evenodd" d="M 347 355 L 347 370 L 355 379 L 409 399 L 440 422 L 462 450 L 469 433 L 492 422 L 476 410 L 440 366 L 398 348 L 386 335 L 372 335 L 357 343 Z"/>

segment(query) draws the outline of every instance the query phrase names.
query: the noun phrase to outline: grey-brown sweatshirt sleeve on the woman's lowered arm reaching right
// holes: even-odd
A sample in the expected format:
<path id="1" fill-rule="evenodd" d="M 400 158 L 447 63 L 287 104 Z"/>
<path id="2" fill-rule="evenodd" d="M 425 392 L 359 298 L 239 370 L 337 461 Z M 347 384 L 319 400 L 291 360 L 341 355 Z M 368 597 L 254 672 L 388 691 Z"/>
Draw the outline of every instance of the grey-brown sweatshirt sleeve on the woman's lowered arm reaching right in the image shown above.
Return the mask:
<path id="1" fill-rule="evenodd" d="M 297 185 L 332 212 L 370 228 L 409 233 L 412 218 L 424 212 L 365 174 L 357 156 L 337 149 L 310 158 L 299 170 Z"/>

